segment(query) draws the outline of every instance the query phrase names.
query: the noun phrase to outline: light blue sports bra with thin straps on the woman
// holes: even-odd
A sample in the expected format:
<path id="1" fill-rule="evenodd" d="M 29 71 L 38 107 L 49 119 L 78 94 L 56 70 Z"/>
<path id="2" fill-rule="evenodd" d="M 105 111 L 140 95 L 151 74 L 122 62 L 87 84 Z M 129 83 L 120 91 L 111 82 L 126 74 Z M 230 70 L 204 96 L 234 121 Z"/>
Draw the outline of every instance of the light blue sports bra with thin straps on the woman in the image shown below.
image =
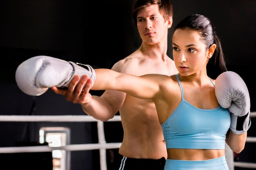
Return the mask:
<path id="1" fill-rule="evenodd" d="M 180 78 L 177 74 L 176 77 L 180 85 L 182 101 L 162 124 L 166 148 L 225 149 L 226 133 L 230 126 L 228 109 L 221 106 L 216 109 L 194 107 L 184 100 Z"/>

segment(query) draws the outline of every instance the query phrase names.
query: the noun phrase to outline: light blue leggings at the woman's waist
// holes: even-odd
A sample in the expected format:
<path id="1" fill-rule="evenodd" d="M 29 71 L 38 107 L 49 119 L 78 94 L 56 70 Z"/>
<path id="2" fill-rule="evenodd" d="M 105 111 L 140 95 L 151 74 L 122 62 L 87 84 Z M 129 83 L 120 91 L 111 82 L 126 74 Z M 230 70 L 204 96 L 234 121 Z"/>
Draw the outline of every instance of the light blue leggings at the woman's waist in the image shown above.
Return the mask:
<path id="1" fill-rule="evenodd" d="M 225 156 L 204 161 L 166 159 L 164 170 L 229 170 Z"/>

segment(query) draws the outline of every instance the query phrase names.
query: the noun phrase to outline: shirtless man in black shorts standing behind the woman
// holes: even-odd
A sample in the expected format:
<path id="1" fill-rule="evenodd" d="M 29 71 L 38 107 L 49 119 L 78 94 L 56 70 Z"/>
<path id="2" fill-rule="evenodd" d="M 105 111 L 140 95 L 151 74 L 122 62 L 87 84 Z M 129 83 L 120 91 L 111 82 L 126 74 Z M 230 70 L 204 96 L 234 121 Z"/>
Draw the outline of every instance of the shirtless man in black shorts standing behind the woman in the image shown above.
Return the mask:
<path id="1" fill-rule="evenodd" d="M 115 63 L 112 70 L 137 76 L 176 74 L 174 62 L 166 54 L 168 28 L 172 25 L 172 4 L 169 0 L 135 0 L 132 13 L 142 39 L 141 46 Z M 56 87 L 52 90 L 68 101 L 80 103 L 85 113 L 97 120 L 107 121 L 119 111 L 124 129 L 119 148 L 122 156 L 120 170 L 163 170 L 167 152 L 153 101 L 113 90 L 106 90 L 100 97 L 91 96 L 88 85 L 81 93 L 85 83 L 86 80 L 82 78 L 79 81 L 75 76 L 68 90 Z"/>

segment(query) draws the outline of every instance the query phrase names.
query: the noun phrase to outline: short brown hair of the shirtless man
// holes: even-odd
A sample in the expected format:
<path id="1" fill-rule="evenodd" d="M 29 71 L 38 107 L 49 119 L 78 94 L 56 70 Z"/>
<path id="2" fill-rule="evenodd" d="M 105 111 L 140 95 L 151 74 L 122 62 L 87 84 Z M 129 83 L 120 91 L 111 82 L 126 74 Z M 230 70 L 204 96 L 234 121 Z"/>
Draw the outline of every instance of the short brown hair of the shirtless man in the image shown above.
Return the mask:
<path id="1" fill-rule="evenodd" d="M 173 16 L 173 5 L 170 0 L 135 0 L 132 7 L 132 17 L 137 27 L 137 13 L 139 9 L 149 7 L 150 5 L 157 4 L 160 13 L 163 15 L 164 20 Z"/>

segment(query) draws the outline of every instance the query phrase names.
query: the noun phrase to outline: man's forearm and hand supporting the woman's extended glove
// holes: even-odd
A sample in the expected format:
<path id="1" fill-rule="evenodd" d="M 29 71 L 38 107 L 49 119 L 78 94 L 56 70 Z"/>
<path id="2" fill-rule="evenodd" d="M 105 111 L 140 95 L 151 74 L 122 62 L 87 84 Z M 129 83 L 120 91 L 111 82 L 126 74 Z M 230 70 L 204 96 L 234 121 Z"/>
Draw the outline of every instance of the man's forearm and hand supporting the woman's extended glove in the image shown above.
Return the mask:
<path id="1" fill-rule="evenodd" d="M 79 76 L 75 76 L 68 89 L 52 87 L 52 90 L 65 96 L 67 101 L 81 104 L 83 111 L 97 120 L 107 121 L 113 118 L 123 105 L 126 93 L 106 90 L 100 97 L 92 96 L 91 84 L 92 81 L 87 77 L 82 77 L 79 81 Z"/>

